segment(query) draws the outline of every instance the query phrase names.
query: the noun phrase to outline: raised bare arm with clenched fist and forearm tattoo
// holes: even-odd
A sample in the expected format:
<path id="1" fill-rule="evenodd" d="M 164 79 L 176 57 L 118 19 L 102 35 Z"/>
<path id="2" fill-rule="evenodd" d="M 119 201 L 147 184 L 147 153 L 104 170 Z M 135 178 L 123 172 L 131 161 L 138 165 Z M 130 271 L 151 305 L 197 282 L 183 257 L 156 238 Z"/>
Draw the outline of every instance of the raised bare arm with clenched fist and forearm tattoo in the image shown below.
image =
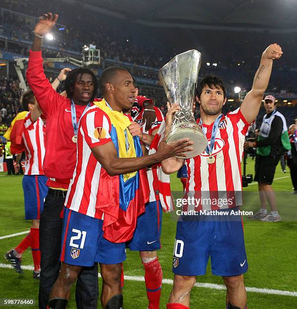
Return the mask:
<path id="1" fill-rule="evenodd" d="M 281 47 L 276 43 L 269 45 L 262 54 L 260 66 L 254 77 L 253 87 L 246 94 L 240 106 L 242 115 L 249 123 L 252 123 L 259 114 L 263 95 L 270 79 L 273 60 L 279 59 L 282 54 Z"/>

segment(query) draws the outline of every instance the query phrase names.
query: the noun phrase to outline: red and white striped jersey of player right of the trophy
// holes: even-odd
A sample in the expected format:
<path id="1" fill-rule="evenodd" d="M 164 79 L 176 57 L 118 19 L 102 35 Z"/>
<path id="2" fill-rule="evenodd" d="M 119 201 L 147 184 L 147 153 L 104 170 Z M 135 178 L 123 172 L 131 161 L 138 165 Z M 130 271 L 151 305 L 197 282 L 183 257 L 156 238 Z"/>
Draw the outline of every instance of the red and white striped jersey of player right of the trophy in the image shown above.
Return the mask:
<path id="1" fill-rule="evenodd" d="M 197 123 L 199 123 L 197 120 Z M 209 155 L 204 151 L 200 156 L 186 160 L 187 184 L 185 191 L 195 196 L 196 208 L 200 210 L 218 210 L 242 205 L 241 190 L 241 159 L 243 154 L 244 136 L 250 124 L 244 119 L 240 109 L 223 116 L 218 124 L 212 155 L 215 162 L 209 164 Z M 203 130 L 210 144 L 213 123 L 203 124 Z M 240 194 L 238 194 L 238 192 Z M 202 199 L 213 200 L 231 198 L 232 201 L 218 207 L 217 203 L 202 202 Z M 191 209 L 188 204 L 188 210 Z"/>

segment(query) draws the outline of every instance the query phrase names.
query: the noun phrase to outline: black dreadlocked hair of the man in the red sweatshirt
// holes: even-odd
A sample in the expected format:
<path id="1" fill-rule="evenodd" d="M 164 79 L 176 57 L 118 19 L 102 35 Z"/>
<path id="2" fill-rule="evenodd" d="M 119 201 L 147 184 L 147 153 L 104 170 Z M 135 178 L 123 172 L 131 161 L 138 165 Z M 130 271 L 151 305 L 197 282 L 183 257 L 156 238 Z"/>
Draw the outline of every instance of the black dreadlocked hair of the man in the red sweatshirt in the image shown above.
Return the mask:
<path id="1" fill-rule="evenodd" d="M 72 71 L 70 71 L 67 74 L 67 77 L 65 79 L 65 90 L 67 93 L 67 97 L 69 99 L 72 99 L 73 96 L 73 90 L 74 90 L 74 83 L 76 82 L 77 76 L 80 75 L 80 78 L 82 77 L 83 74 L 90 74 L 93 80 L 93 85 L 94 85 L 94 91 L 91 97 L 91 101 L 94 99 L 94 97 L 97 95 L 98 92 L 98 81 L 96 78 L 96 75 L 93 73 L 92 70 L 87 69 L 87 68 L 77 68 Z"/>

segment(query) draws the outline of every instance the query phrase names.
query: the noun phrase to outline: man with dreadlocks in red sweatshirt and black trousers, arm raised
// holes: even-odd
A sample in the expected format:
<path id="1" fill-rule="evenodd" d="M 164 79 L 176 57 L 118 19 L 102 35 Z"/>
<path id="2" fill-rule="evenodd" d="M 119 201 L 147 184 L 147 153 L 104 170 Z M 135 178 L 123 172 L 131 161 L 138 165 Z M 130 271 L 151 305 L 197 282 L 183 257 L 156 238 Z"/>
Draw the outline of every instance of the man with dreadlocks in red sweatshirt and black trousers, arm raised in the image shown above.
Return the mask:
<path id="1" fill-rule="evenodd" d="M 34 29 L 27 81 L 46 118 L 43 171 L 48 177 L 48 194 L 40 216 L 41 273 L 39 308 L 46 308 L 51 288 L 60 271 L 62 217 L 67 189 L 76 164 L 76 135 L 79 120 L 97 93 L 98 83 L 89 69 L 69 72 L 65 80 L 67 97 L 57 93 L 42 66 L 41 37 L 55 25 L 58 16 L 45 14 Z M 97 263 L 80 273 L 76 285 L 78 308 L 96 308 L 98 295 Z"/>

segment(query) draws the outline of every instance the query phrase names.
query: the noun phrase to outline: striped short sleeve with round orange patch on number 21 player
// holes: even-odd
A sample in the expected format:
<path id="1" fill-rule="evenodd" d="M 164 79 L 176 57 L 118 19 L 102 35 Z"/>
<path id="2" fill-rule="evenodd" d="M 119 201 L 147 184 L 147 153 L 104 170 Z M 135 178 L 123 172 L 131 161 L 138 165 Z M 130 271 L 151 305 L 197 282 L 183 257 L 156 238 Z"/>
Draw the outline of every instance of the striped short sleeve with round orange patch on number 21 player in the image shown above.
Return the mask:
<path id="1" fill-rule="evenodd" d="M 106 113 L 95 108 L 83 116 L 80 132 L 90 148 L 104 145 L 111 141 L 111 122 Z"/>

